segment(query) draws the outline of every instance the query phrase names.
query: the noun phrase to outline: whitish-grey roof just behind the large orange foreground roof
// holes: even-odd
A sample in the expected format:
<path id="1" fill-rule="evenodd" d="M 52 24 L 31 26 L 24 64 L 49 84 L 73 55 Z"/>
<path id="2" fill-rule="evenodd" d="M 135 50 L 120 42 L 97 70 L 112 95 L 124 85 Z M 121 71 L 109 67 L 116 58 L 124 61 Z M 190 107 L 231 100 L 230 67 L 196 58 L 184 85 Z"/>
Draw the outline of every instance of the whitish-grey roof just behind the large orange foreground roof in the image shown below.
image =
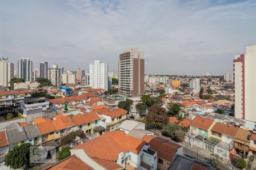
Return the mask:
<path id="1" fill-rule="evenodd" d="M 125 120 L 121 125 L 119 125 L 119 129 L 124 131 L 126 134 L 129 134 L 133 129 L 145 130 L 145 124 L 134 120 Z"/>

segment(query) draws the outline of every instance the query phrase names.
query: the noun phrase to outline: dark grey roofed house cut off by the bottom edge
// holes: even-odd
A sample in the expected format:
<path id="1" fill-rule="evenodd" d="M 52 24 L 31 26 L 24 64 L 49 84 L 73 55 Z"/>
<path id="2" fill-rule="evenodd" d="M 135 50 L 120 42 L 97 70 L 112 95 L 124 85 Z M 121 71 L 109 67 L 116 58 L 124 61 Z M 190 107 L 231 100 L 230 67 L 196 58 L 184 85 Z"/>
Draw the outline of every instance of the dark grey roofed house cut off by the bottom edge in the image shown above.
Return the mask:
<path id="1" fill-rule="evenodd" d="M 201 169 L 201 170 L 214 170 L 212 165 L 201 162 L 200 160 L 188 158 L 187 156 L 177 154 L 172 160 L 172 165 L 168 170 L 187 170 L 187 169 Z"/>

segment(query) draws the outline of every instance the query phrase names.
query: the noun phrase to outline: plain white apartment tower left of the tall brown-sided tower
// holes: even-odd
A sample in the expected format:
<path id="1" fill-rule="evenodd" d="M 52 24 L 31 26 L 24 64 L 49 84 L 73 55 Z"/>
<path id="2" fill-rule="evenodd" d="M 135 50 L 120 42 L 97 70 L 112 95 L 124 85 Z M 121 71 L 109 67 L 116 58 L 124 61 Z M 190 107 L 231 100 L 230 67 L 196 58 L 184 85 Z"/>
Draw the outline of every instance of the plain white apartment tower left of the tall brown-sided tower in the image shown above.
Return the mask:
<path id="1" fill-rule="evenodd" d="M 102 63 L 99 60 L 95 60 L 89 66 L 90 74 L 90 87 L 103 88 L 105 91 L 109 90 L 109 69 L 107 63 Z"/>

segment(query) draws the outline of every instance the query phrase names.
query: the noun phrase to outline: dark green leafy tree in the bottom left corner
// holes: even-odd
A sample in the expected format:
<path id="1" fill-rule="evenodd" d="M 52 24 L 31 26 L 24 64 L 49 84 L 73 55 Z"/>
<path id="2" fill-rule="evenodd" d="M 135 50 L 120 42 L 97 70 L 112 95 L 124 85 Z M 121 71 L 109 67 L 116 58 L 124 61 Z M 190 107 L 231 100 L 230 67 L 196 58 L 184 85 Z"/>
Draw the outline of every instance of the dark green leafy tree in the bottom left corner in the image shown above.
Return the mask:
<path id="1" fill-rule="evenodd" d="M 30 167 L 30 143 L 21 143 L 14 146 L 13 150 L 10 150 L 3 160 L 5 165 L 10 166 L 13 169 L 18 169 L 26 165 Z"/>

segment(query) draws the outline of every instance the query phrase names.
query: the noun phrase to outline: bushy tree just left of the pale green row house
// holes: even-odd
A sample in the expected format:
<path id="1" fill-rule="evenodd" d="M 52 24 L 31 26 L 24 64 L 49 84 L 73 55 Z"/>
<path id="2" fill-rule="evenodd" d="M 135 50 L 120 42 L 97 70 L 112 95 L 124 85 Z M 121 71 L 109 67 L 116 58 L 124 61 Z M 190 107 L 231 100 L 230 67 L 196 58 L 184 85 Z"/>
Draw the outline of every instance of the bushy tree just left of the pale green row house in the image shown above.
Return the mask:
<path id="1" fill-rule="evenodd" d="M 181 128 L 181 126 L 177 124 L 168 123 L 162 131 L 162 134 L 171 138 L 176 142 L 184 141 L 185 131 Z"/>

